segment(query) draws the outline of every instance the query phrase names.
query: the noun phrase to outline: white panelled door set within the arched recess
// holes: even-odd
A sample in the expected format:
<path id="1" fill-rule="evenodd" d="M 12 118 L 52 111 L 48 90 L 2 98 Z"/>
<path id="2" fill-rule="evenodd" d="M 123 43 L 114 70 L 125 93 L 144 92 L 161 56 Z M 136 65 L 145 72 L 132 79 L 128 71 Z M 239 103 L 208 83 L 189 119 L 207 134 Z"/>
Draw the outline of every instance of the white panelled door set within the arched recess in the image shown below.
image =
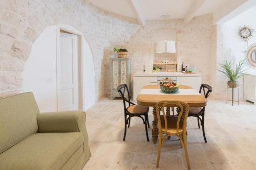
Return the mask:
<path id="1" fill-rule="evenodd" d="M 60 33 L 58 110 L 78 110 L 77 35 Z"/>

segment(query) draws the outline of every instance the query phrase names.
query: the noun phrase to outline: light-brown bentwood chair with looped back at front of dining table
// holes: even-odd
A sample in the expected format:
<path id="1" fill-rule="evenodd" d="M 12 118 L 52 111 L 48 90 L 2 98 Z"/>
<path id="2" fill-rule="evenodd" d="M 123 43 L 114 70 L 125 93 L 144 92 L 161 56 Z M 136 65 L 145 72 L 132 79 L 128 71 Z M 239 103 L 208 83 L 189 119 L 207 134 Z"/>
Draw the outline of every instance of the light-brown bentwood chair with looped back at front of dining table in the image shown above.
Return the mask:
<path id="1" fill-rule="evenodd" d="M 178 115 L 169 115 L 165 113 L 165 108 L 177 108 L 180 110 Z M 186 126 L 189 106 L 181 101 L 160 101 L 156 104 L 157 122 L 158 122 L 158 152 L 157 152 L 157 167 L 159 167 L 161 147 L 164 139 L 168 136 L 177 136 L 180 139 L 181 148 L 184 147 L 185 156 L 187 160 L 187 167 L 190 169 L 187 141 L 186 141 Z M 162 115 L 160 115 L 162 111 Z M 163 134 L 164 137 L 163 137 Z"/>

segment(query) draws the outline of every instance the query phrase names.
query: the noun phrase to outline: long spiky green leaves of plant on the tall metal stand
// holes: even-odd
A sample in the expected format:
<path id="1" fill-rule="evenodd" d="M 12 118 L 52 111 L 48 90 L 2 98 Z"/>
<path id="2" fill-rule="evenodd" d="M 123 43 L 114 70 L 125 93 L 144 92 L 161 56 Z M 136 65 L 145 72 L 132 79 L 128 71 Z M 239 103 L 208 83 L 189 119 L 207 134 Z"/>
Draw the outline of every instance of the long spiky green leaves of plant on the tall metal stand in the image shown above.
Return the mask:
<path id="1" fill-rule="evenodd" d="M 218 69 L 218 71 L 226 75 L 231 82 L 236 82 L 239 78 L 246 75 L 247 69 L 245 68 L 245 66 L 246 66 L 245 59 L 241 60 L 238 64 L 236 64 L 236 68 L 232 67 L 231 61 L 226 60 L 224 64 L 221 64 L 221 67 L 223 68 L 223 70 Z"/>

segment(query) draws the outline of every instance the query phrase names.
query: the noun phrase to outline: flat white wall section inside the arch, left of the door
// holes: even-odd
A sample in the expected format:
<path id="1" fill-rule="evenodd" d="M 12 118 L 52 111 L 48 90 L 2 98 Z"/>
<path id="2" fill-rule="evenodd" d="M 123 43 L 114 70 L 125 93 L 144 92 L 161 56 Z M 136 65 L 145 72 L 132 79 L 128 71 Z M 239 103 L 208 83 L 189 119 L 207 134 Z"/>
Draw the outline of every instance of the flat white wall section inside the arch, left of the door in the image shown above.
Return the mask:
<path id="1" fill-rule="evenodd" d="M 47 82 L 51 78 L 51 82 Z M 41 112 L 57 110 L 56 26 L 46 28 L 32 45 L 25 63 L 22 92 L 34 93 Z"/>

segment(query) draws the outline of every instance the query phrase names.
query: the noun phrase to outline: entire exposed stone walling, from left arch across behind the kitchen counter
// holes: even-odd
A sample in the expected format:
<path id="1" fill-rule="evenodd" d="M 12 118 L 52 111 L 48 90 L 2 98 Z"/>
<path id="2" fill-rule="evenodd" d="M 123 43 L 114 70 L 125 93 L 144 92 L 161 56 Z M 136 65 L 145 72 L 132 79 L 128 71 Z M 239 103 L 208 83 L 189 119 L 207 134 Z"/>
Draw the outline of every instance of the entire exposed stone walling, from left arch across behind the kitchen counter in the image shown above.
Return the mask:
<path id="1" fill-rule="evenodd" d="M 45 28 L 57 24 L 80 30 L 90 44 L 97 99 L 110 94 L 109 59 L 116 57 L 113 46 L 129 50 L 132 76 L 143 71 L 143 64 L 151 71 L 154 31 L 162 28 L 177 30 L 179 64 L 196 66 L 203 83 L 216 84 L 217 36 L 211 14 L 195 17 L 188 25 L 171 19 L 151 20 L 140 26 L 131 18 L 105 12 L 84 0 L 1 0 L 0 8 L 0 97 L 19 93 L 33 42 Z"/>

